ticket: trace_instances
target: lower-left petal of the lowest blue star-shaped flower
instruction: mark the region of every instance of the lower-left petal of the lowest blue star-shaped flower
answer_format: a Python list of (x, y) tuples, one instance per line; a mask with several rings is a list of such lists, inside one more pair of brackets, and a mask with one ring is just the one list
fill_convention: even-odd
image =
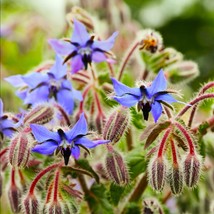
[(32, 151), (43, 155), (51, 155), (57, 149), (58, 144), (55, 141), (46, 141), (45, 143), (36, 145)]

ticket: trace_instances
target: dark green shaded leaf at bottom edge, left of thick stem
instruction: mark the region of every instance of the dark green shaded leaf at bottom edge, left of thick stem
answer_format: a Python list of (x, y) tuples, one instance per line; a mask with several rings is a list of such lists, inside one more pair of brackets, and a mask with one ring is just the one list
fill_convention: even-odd
[(108, 201), (107, 191), (103, 184), (94, 183), (90, 189), (89, 195), (86, 195), (90, 211), (92, 214), (113, 214), (113, 208)]

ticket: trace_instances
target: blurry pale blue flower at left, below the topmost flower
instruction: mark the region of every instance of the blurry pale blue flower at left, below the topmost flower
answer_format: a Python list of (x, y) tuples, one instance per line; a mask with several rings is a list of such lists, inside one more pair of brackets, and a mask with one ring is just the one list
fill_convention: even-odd
[(21, 87), (17, 95), (24, 104), (35, 105), (52, 99), (61, 104), (71, 114), (74, 100), (82, 100), (80, 91), (75, 90), (66, 78), (66, 65), (56, 56), (56, 62), (46, 73), (33, 72), (27, 75), (15, 75), (6, 78), (15, 87)]

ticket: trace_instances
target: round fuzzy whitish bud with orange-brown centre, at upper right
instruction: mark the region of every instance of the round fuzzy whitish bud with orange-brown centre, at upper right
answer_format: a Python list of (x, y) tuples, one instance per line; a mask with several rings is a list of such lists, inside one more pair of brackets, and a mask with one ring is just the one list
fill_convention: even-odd
[(139, 33), (138, 37), (141, 41), (140, 50), (155, 53), (163, 48), (163, 38), (157, 31), (145, 29)]

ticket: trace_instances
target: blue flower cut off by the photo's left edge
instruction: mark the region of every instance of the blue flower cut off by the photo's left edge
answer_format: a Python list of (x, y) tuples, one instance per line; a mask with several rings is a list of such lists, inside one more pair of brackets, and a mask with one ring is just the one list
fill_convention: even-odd
[(0, 99), (0, 135), (2, 138), (4, 135), (7, 137), (12, 137), (15, 131), (15, 124), (6, 114), (4, 114), (3, 107), (3, 102)]

